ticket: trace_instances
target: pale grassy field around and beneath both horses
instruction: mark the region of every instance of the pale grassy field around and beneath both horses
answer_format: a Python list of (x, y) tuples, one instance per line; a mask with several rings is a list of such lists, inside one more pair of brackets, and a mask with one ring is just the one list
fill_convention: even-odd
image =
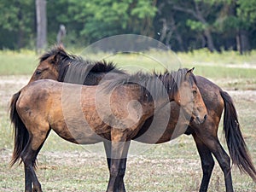
[[(164, 55), (154, 53), (161, 61)], [(148, 54), (149, 55), (149, 54)], [(100, 55), (97, 55), (101, 58)], [(177, 58), (179, 57), (179, 58)], [(243, 135), (256, 165), (256, 53), (237, 55), (234, 52), (210, 54), (198, 51), (173, 56), (174, 64), (195, 67), (195, 74), (212, 79), (229, 90), (239, 113)], [(0, 52), (0, 191), (23, 191), (23, 166), (9, 168), (13, 140), (8, 118), (8, 102), (32, 75), (38, 55), (31, 51)], [(122, 63), (131, 70), (161, 70), (161, 64), (147, 55), (111, 55), (109, 61)], [(137, 66), (137, 63), (140, 63)], [(155, 64), (156, 63), (156, 64)], [(180, 65), (180, 63), (178, 65)], [(178, 65), (175, 65), (177, 67)], [(219, 136), (224, 144), (222, 125)], [(38, 178), (44, 191), (105, 191), (108, 167), (102, 143), (78, 146), (67, 143), (51, 133), (38, 156)], [(134, 143), (127, 163), (127, 191), (198, 191), (201, 183), (201, 162), (192, 137), (178, 137), (171, 143), (143, 146)], [(235, 191), (255, 192), (251, 178), (232, 170)], [(216, 162), (209, 187), (210, 192), (224, 191), (224, 177)]]

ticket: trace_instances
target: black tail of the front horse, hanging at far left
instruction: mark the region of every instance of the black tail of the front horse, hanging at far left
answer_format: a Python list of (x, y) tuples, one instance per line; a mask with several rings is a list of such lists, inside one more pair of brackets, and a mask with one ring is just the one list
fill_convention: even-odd
[(13, 157), (10, 162), (11, 166), (13, 166), (20, 159), (20, 154), (26, 147), (26, 143), (28, 143), (29, 140), (29, 134), (26, 130), (26, 126), (23, 124), (16, 110), (16, 102), (19, 99), (20, 92), (21, 91), (15, 93), (9, 105), (9, 118), (11, 120), (11, 123), (13, 124), (15, 136), (15, 147)]

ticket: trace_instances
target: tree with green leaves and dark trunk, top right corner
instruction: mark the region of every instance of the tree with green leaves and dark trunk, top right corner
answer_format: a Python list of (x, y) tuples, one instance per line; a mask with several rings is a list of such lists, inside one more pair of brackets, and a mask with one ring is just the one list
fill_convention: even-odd
[[(250, 49), (249, 37), (256, 26), (256, 0), (230, 0), (224, 3), (215, 22), (216, 31), (222, 38), (234, 38), (242, 54)], [(223, 41), (223, 40), (222, 40)]]

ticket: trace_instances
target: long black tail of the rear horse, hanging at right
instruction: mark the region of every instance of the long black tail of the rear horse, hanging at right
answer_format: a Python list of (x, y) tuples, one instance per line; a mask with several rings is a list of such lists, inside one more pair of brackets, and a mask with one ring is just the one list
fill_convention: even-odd
[(224, 99), (224, 135), (230, 151), (233, 165), (238, 166), (241, 172), (247, 173), (256, 182), (256, 169), (247, 149), (247, 144), (241, 135), (236, 108), (231, 96), (221, 90)]

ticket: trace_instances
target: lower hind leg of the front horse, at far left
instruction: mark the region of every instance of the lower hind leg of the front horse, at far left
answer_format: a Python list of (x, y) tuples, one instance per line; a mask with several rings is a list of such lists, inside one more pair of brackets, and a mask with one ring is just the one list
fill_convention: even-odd
[(25, 169), (25, 191), (26, 192), (42, 192), (41, 184), (35, 172), (36, 159), (40, 149), (43, 147), (44, 141), (49, 135), (49, 129), (40, 134), (30, 134), (30, 140), (24, 148), (21, 159)]

